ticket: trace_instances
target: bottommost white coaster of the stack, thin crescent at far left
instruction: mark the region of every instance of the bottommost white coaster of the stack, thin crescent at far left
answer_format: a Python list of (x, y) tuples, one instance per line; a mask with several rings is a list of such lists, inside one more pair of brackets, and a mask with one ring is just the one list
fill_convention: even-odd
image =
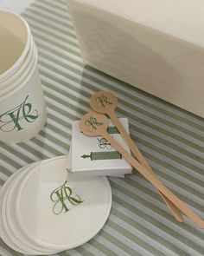
[(13, 244), (13, 241), (10, 240), (10, 237), (8, 236), (8, 234), (6, 233), (4, 227), (3, 227), (3, 198), (4, 198), (4, 195), (6, 194), (7, 190), (8, 190), (8, 187), (10, 187), (10, 183), (11, 181), (15, 180), (16, 176), (22, 172), (23, 170), (25, 169), (25, 167), (22, 167), (21, 169), (19, 169), (18, 171), (16, 171), (16, 173), (12, 174), (9, 179), (3, 184), (3, 187), (1, 188), (0, 190), (0, 236), (1, 236), (1, 239), (8, 245), (10, 246), (11, 249), (15, 250), (16, 252), (18, 253), (27, 253), (27, 252), (24, 252), (22, 250), (21, 247), (18, 247), (18, 246), (15, 246)]

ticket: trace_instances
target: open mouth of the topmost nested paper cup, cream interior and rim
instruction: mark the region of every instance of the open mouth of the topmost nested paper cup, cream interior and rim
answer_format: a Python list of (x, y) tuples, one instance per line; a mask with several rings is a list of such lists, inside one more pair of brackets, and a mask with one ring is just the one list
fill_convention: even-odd
[(0, 10), (0, 38), (0, 82), (3, 82), (24, 62), (29, 52), (29, 25), (21, 16)]

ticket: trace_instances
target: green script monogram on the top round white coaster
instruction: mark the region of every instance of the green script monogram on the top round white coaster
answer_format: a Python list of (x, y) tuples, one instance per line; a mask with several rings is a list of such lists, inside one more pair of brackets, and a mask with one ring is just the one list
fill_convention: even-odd
[(61, 187), (57, 187), (54, 189), (52, 194), (50, 194), (50, 199), (54, 202), (53, 207), (53, 213), (58, 215), (65, 211), (69, 211), (70, 209), (67, 207), (67, 203), (71, 203), (73, 206), (77, 206), (80, 203), (83, 202), (83, 200), (80, 199), (80, 195), (75, 194), (75, 196), (72, 195), (73, 190), (71, 187), (68, 187), (67, 181), (64, 182)]

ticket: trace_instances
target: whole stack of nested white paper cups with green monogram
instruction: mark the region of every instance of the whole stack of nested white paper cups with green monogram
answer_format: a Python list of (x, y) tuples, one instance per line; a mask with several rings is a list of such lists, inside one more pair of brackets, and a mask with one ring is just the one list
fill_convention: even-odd
[(44, 126), (47, 111), (28, 23), (0, 10), (0, 141), (28, 141)]

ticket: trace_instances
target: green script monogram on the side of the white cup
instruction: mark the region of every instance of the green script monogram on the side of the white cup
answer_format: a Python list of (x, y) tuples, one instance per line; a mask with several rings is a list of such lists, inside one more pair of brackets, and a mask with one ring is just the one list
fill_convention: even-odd
[(22, 121), (33, 122), (40, 115), (37, 109), (32, 111), (32, 105), (28, 102), (29, 95), (16, 108), (0, 115), (0, 130), (3, 132), (20, 131), (23, 129)]

